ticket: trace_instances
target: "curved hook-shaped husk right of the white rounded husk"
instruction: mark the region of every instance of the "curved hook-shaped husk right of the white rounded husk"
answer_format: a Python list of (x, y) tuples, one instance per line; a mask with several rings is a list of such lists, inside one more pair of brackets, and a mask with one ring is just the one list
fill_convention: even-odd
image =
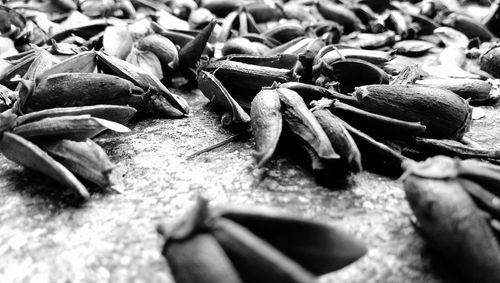
[(150, 34), (137, 42), (137, 49), (153, 52), (160, 59), (163, 73), (170, 74), (179, 67), (177, 48), (168, 38)]

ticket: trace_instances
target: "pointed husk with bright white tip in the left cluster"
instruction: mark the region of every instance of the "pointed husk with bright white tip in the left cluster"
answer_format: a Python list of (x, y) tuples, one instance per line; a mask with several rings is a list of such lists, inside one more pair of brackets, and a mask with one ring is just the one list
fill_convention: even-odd
[(44, 118), (38, 121), (19, 125), (13, 133), (23, 138), (58, 137), (71, 140), (92, 138), (102, 131), (110, 129), (117, 132), (128, 132), (129, 128), (90, 115), (60, 116)]

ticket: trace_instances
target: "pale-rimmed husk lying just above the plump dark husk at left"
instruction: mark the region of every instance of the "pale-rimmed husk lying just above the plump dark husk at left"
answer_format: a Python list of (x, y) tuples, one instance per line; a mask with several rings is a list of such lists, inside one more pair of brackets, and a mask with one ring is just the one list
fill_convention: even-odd
[(96, 69), (96, 52), (84, 51), (69, 57), (68, 59), (53, 65), (36, 76), (39, 84), (49, 76), (62, 73), (93, 73)]

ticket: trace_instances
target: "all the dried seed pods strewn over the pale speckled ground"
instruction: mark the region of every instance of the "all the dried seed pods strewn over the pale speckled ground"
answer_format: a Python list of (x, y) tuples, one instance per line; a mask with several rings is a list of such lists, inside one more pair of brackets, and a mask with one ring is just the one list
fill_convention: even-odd
[[(450, 225), (460, 226), (447, 209), (464, 204), (480, 214), (464, 192), (485, 211), (498, 210), (488, 190), (498, 183), (491, 180), (500, 179), (489, 164), (500, 163), (499, 152), (465, 136), (474, 131), (473, 107), (494, 105), (499, 97), (500, 2), (485, 2), (4, 1), (0, 150), (59, 181), (77, 199), (89, 198), (82, 180), (120, 191), (115, 166), (91, 139), (105, 130), (128, 131), (121, 124), (134, 115), (189, 119), (190, 107), (175, 89), (199, 89), (222, 126), (236, 136), (253, 134), (257, 167), (266, 167), (282, 147), (301, 152), (318, 180), (345, 179), (363, 169), (394, 177), (406, 170), (408, 200), (422, 230), (447, 254), (461, 242), (443, 244), (442, 235), (432, 234), (445, 227), (452, 237)], [(454, 165), (415, 163), (437, 155), (448, 157), (430, 160), (455, 160)], [(451, 157), (481, 161), (439, 159)], [(437, 171), (447, 174), (436, 176)], [(472, 183), (485, 175), (491, 182), (464, 185), (463, 174)], [(464, 195), (462, 200), (447, 200), (447, 187)], [(427, 202), (444, 208), (434, 211)], [(311, 255), (273, 247), (282, 239), (258, 231), (261, 220), (286, 223), (290, 231), (316, 224), (265, 213), (214, 214), (207, 207), (202, 201), (182, 225), (160, 229), (177, 282), (310, 282), (313, 275), (340, 268), (325, 263), (317, 271), (297, 263)], [(429, 223), (429, 215), (441, 222)], [(250, 231), (243, 227), (248, 219)], [(491, 235), (498, 225), (471, 221), (486, 236), (471, 232), (464, 236), (465, 251), (448, 257), (471, 262), (464, 270), (470, 280), (486, 274), (484, 282), (497, 282), (498, 272), (483, 272), (477, 252), (467, 248), (487, 239), (493, 248), (484, 250), (497, 263), (500, 251)], [(365, 253), (344, 236), (329, 239), (334, 240), (352, 247), (342, 266)], [(205, 249), (210, 250), (201, 254)], [(188, 274), (193, 265), (199, 269)]]

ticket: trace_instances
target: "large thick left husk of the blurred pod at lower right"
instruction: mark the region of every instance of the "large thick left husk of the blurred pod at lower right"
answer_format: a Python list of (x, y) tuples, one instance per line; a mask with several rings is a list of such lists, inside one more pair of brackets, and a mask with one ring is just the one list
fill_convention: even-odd
[(403, 179), (406, 198), (426, 238), (468, 281), (498, 282), (498, 242), (450, 163), (436, 157), (409, 165)]

